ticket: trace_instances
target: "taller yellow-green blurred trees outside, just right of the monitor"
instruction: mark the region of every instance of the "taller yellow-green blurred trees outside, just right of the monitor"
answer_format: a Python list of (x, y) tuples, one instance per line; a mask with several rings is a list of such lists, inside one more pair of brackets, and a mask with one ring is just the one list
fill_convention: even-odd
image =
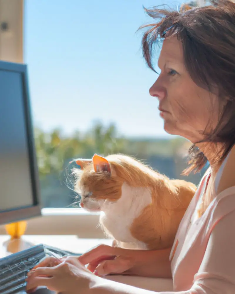
[(76, 131), (72, 136), (63, 136), (60, 129), (45, 133), (35, 128), (34, 136), (40, 176), (61, 173), (65, 164), (74, 158), (91, 158), (94, 153), (117, 153), (124, 143), (124, 139), (116, 138), (113, 124), (105, 127), (97, 123), (87, 133)]

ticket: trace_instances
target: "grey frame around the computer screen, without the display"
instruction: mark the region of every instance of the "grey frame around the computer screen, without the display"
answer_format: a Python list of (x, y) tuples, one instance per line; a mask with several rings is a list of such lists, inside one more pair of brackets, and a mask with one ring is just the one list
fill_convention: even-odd
[(33, 206), (12, 208), (0, 213), (0, 225), (15, 223), (21, 220), (41, 216), (41, 197), (39, 189), (39, 175), (36, 158), (36, 148), (33, 135), (33, 123), (31, 117), (31, 104), (28, 86), (28, 69), (26, 64), (0, 61), (0, 71), (13, 71), (21, 74), (23, 85), (24, 118), (26, 122), (26, 136), (28, 146), (28, 158), (33, 193)]

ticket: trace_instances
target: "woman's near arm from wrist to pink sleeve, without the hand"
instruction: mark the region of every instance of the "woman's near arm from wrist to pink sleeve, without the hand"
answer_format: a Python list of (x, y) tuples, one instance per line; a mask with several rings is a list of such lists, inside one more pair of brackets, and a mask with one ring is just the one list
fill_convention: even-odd
[[(229, 196), (229, 197), (235, 197)], [(162, 292), (158, 294), (234, 294), (235, 293), (235, 211), (229, 213), (216, 224), (207, 249), (194, 277), (192, 288), (182, 292)], [(115, 284), (112, 281), (95, 286), (94, 294), (152, 294), (147, 290)]]

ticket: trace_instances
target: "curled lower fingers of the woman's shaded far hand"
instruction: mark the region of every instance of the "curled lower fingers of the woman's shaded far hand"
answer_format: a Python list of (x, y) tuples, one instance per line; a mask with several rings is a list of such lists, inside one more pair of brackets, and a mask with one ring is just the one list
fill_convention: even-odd
[(121, 274), (133, 266), (131, 258), (118, 256), (114, 260), (102, 261), (94, 271), (95, 275), (105, 276), (109, 274)]

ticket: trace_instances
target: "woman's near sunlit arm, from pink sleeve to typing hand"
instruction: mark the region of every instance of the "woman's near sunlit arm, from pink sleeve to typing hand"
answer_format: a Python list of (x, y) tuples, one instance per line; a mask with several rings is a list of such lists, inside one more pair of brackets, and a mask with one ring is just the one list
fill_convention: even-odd
[[(235, 197), (235, 195), (232, 197)], [(191, 289), (182, 292), (162, 292), (158, 294), (234, 294), (234, 224), (235, 210), (216, 224)], [(148, 258), (150, 258), (150, 255)], [(75, 257), (62, 260), (47, 258), (42, 261), (29, 273), (27, 279), (27, 290), (35, 289), (38, 286), (47, 286), (49, 289), (65, 294), (157, 294), (153, 291), (135, 288), (95, 276), (81, 265)]]

